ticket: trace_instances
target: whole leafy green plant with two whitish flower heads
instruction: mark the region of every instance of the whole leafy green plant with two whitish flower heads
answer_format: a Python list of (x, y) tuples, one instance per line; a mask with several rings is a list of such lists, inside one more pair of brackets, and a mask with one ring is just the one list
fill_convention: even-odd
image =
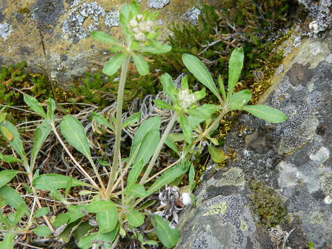
[[(133, 137), (129, 156), (127, 158), (121, 156), (122, 128), (140, 120), (140, 113), (136, 113), (122, 122), (124, 86), (127, 80), (130, 59), (133, 59), (133, 63), (140, 75), (147, 75), (149, 66), (142, 53), (160, 54), (171, 49), (170, 46), (161, 44), (156, 40), (158, 33), (156, 32), (157, 28), (154, 26), (155, 21), (156, 13), (147, 11), (140, 13), (138, 3), (132, 1), (130, 5), (123, 6), (120, 13), (120, 24), (127, 44), (120, 44), (113, 37), (104, 33), (96, 31), (92, 33), (94, 39), (110, 44), (110, 50), (116, 53), (104, 65), (103, 72), (111, 76), (121, 68), (116, 116), (110, 121), (99, 113), (93, 113), (92, 115), (96, 122), (103, 124), (116, 133), (113, 162), (111, 164), (100, 162), (102, 165), (110, 167), (110, 172), (106, 177), (103, 177), (98, 170), (91, 154), (89, 140), (79, 120), (73, 116), (66, 115), (62, 117), (59, 123), (62, 136), (57, 131), (54, 100), (48, 100), (48, 107), (45, 112), (42, 105), (35, 98), (24, 95), (24, 101), (30, 109), (44, 118), (34, 134), (30, 163), (24, 151), (23, 143), (19, 138), (19, 133), (10, 122), (5, 120), (6, 115), (3, 116), (1, 114), (0, 131), (21, 158), (21, 160), (11, 159), (17, 160), (18, 163), (24, 165), (37, 205), (40, 204), (37, 202), (37, 190), (43, 190), (49, 193), (51, 199), (66, 206), (67, 211), (57, 215), (52, 223), (44, 216), (48, 228), (46, 226), (42, 228), (38, 226), (34, 229), (35, 234), (45, 237), (50, 232), (53, 232), (53, 234), (58, 234), (55, 236), (68, 241), (69, 234), (73, 232), (73, 236), (78, 241), (78, 247), (83, 249), (91, 248), (93, 244), (95, 246), (104, 246), (104, 248), (115, 248), (121, 237), (131, 237), (140, 242), (141, 248), (145, 248), (145, 245), (156, 245), (157, 242), (154, 241), (153, 235), (146, 237), (137, 228), (145, 227), (151, 221), (151, 225), (153, 225), (154, 231), (163, 245), (167, 248), (172, 248), (178, 241), (178, 230), (174, 228), (177, 221), (172, 217), (170, 222), (167, 219), (169, 218), (167, 212), (162, 212), (161, 216), (156, 212), (149, 212), (147, 208), (154, 204), (154, 201), (147, 199), (147, 197), (153, 196), (165, 187), (165, 190), (160, 191), (158, 195), (161, 196), (159, 197), (160, 201), (165, 203), (165, 201), (168, 201), (167, 196), (172, 195), (178, 203), (183, 203), (183, 205), (194, 202), (192, 191), (195, 186), (195, 170), (194, 165), (191, 163), (192, 155), (203, 147), (203, 142), (207, 141), (209, 144), (218, 145), (218, 142), (210, 135), (219, 126), (220, 120), (228, 112), (245, 110), (269, 122), (283, 122), (286, 120), (284, 113), (272, 107), (246, 105), (252, 97), (249, 90), (233, 93), (243, 66), (243, 48), (235, 48), (230, 57), (227, 91), (221, 77), (218, 78), (219, 88), (217, 88), (204, 64), (194, 55), (184, 54), (182, 56), (183, 64), (203, 86), (216, 96), (219, 104), (203, 104), (200, 106), (199, 100), (205, 97), (205, 88), (193, 92), (189, 88), (187, 76), (182, 78), (181, 88), (176, 89), (172, 77), (168, 74), (162, 75), (160, 82), (163, 84), (163, 90), (170, 102), (156, 100), (155, 105), (162, 109), (172, 110), (172, 118), (161, 137), (160, 117), (155, 116), (143, 121)], [(215, 114), (216, 118), (213, 118)], [(176, 121), (180, 123), (183, 133), (171, 133)], [(66, 154), (73, 161), (75, 168), (85, 176), (86, 181), (89, 183), (62, 174), (39, 175), (39, 172), (34, 173), (37, 153), (51, 131), (53, 131)], [(84, 165), (79, 163), (73, 156), (62, 137), (89, 161), (93, 169), (93, 176), (86, 172)], [(182, 143), (181, 148), (176, 146), (175, 142)], [(164, 144), (178, 154), (178, 160), (150, 176)], [(209, 151), (213, 160), (224, 160), (221, 154), (222, 151), (218, 148), (210, 145)], [(1, 160), (3, 158), (5, 156), (2, 156)], [(8, 158), (5, 159), (8, 160)], [(188, 170), (189, 186), (187, 186), (185, 194), (180, 196), (176, 185)], [(8, 187), (6, 184), (16, 174), (19, 174), (19, 172), (2, 171), (0, 173), (0, 182), (3, 183), (3, 187)], [(159, 177), (157, 178), (157, 176)], [(107, 180), (107, 184), (105, 184), (105, 180)], [(153, 183), (150, 183), (151, 181)], [(64, 191), (60, 191), (61, 189), (64, 189)], [(75, 202), (68, 200), (68, 194), (71, 190), (74, 191), (73, 189), (75, 191), (78, 190), (80, 196), (84, 196), (85, 200)], [(171, 210), (174, 208), (173, 205), (174, 202), (169, 203)], [(21, 209), (18, 207), (14, 208), (17, 209), (17, 213), (21, 213)], [(42, 209), (42, 207), (39, 206), (39, 209)], [(40, 212), (45, 214), (44, 211)], [(32, 210), (30, 217), (34, 215)], [(89, 220), (94, 221), (95, 225), (98, 225), (98, 230), (93, 225), (90, 225), (84, 219), (84, 216), (88, 216)], [(6, 227), (7, 232), (3, 243), (12, 245), (13, 237), (11, 234), (13, 231), (9, 230), (11, 227), (8, 227), (6, 219), (1, 219), (0, 223)], [(28, 223), (24, 231), (28, 231), (30, 227), (31, 225)], [(11, 247), (8, 246), (8, 248)]]

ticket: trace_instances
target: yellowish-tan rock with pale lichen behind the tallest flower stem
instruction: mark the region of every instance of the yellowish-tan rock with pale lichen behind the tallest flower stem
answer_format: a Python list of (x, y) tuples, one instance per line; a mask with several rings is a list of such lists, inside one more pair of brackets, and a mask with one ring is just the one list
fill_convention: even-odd
[[(46, 73), (61, 86), (102, 68), (111, 54), (89, 38), (102, 30), (119, 38), (119, 10), (122, 0), (26, 0), (0, 1), (0, 62), (12, 64), (25, 59), (30, 71)], [(159, 9), (159, 23), (196, 21), (192, 9), (208, 0), (147, 0), (142, 8)], [(216, 3), (217, 4), (217, 3)], [(191, 12), (188, 12), (190, 11)], [(193, 17), (191, 16), (194, 15)]]

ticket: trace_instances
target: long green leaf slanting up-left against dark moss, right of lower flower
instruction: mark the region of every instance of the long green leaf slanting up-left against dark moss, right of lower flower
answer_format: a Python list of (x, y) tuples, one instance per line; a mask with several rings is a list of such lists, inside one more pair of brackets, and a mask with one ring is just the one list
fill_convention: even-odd
[(203, 64), (203, 62), (201, 62), (201, 60), (194, 55), (188, 54), (182, 55), (182, 61), (183, 64), (185, 64), (185, 67), (190, 71), (190, 73), (192, 73), (196, 77), (196, 79), (199, 80), (199, 82), (201, 82), (204, 86), (210, 89), (210, 91), (220, 100), (221, 96), (218, 92), (218, 89), (216, 89), (216, 84), (214, 84), (212, 76), (208, 71), (208, 68), (206, 68)]

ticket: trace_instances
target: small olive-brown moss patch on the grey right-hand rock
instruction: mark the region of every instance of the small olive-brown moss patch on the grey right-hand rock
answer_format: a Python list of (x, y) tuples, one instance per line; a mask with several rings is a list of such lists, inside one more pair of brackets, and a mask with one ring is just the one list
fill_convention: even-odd
[(250, 181), (248, 187), (251, 190), (250, 201), (253, 211), (258, 216), (258, 223), (266, 225), (267, 228), (282, 223), (286, 217), (286, 210), (275, 190), (258, 181)]

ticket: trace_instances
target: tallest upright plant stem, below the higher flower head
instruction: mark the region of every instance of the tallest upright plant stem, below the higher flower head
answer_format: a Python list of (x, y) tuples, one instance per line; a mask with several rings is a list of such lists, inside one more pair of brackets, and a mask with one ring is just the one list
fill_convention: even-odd
[(109, 176), (109, 183), (107, 184), (106, 196), (111, 194), (114, 181), (116, 181), (116, 174), (118, 173), (119, 167), (119, 155), (120, 155), (120, 142), (121, 142), (121, 131), (122, 131), (122, 102), (124, 85), (126, 84), (127, 72), (129, 67), (130, 55), (127, 56), (122, 64), (121, 76), (118, 89), (118, 98), (116, 100), (116, 142), (114, 145), (113, 163), (111, 168), (111, 175)]

